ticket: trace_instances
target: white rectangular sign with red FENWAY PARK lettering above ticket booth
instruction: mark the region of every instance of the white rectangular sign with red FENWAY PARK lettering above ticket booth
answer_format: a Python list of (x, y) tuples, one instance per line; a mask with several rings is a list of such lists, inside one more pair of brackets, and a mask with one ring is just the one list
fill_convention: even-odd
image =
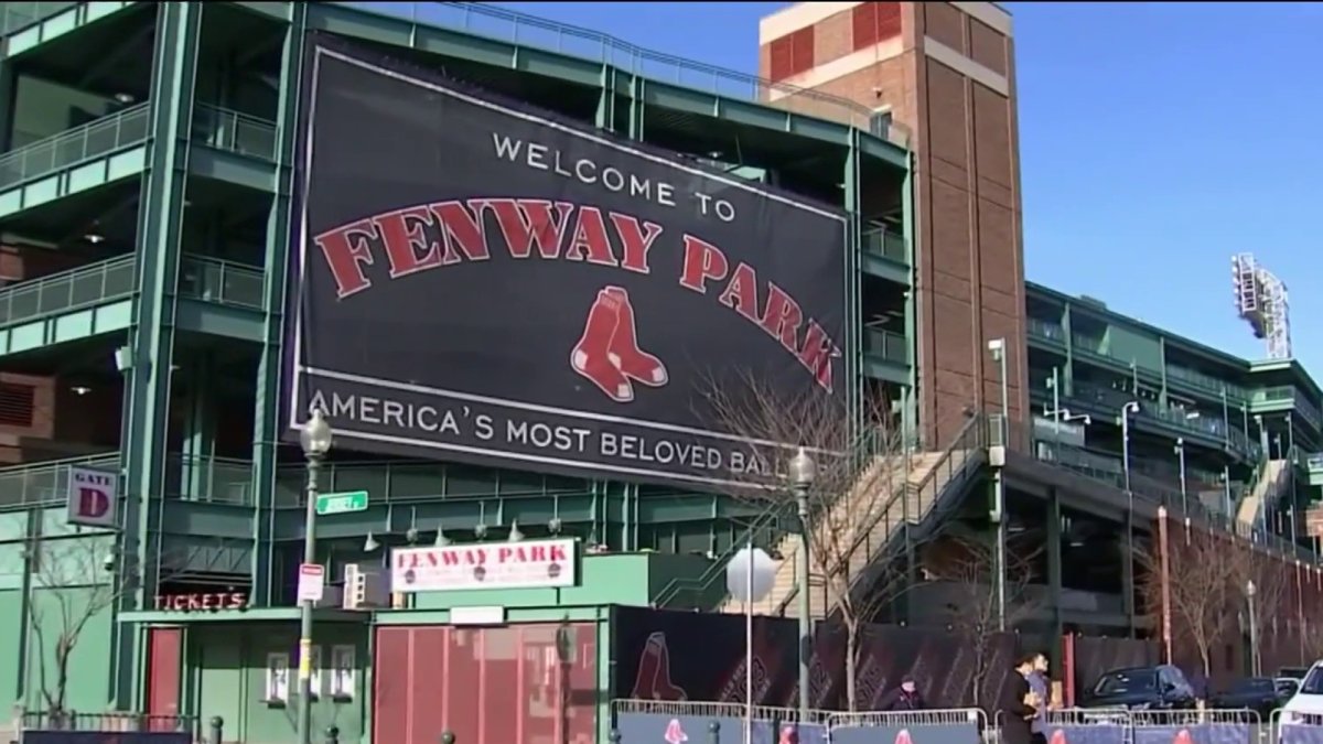
[(528, 540), (397, 548), (390, 555), (390, 588), (454, 592), (573, 586), (578, 579), (576, 545), (574, 540)]

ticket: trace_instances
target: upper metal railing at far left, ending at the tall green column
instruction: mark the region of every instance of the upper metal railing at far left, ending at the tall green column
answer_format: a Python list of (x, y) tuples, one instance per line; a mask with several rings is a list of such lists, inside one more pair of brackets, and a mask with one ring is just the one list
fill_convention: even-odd
[(0, 189), (140, 144), (148, 124), (148, 103), (139, 103), (0, 155)]

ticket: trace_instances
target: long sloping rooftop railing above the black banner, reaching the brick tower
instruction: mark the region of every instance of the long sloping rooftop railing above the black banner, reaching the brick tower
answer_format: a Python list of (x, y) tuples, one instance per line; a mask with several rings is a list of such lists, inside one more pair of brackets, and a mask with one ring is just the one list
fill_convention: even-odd
[(863, 131), (908, 146), (909, 131), (886, 116), (875, 116), (860, 103), (818, 90), (775, 83), (755, 75), (726, 70), (642, 49), (605, 33), (548, 21), (486, 3), (343, 3), (385, 16), (404, 17), (419, 25), (463, 30), (521, 46), (536, 46), (611, 65), (643, 78), (771, 106), (810, 116), (843, 120)]

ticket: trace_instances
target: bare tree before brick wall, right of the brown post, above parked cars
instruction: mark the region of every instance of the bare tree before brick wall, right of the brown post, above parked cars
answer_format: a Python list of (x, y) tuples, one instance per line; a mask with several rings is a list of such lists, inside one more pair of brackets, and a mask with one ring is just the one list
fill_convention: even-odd
[[(1156, 543), (1156, 541), (1155, 541)], [(1199, 655), (1204, 675), (1212, 675), (1212, 650), (1240, 622), (1245, 580), (1253, 553), (1232, 535), (1211, 528), (1172, 530), (1167, 537), (1167, 612), (1174, 643), (1188, 643)], [(1143, 567), (1140, 594), (1154, 628), (1163, 626), (1162, 545), (1136, 551)]]

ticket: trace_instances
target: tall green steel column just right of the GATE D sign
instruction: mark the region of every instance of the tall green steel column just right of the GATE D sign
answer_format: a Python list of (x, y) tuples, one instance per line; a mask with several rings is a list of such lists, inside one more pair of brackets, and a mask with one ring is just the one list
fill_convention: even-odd
[[(152, 138), (138, 212), (138, 302), (128, 331), (131, 365), (124, 372), (126, 405), (123, 487), (127, 498), (124, 549), (136, 555), (138, 582), (124, 592), (120, 609), (147, 606), (156, 592), (161, 491), (169, 418), (171, 364), (175, 346), (176, 287), (184, 188), (189, 158), (189, 123), (201, 36), (202, 7), (197, 3), (156, 5), (156, 48), (152, 53)], [(122, 561), (128, 564), (128, 561)], [(111, 669), (112, 696), (124, 706), (140, 704), (136, 633), (115, 624)], [(123, 663), (120, 663), (123, 662)]]

